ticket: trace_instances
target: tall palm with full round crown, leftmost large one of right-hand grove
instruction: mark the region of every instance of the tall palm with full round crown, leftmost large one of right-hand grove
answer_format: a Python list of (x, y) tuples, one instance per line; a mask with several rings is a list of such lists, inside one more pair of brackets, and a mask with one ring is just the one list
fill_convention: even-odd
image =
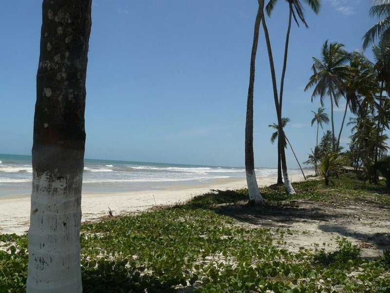
[(321, 48), (321, 60), (313, 57), (313, 72), (305, 91), (314, 86), (312, 101), (315, 96), (320, 97), (321, 105), (324, 105), (324, 97), (328, 95), (331, 100), (331, 126), (332, 149), (334, 143), (333, 99), (338, 106), (340, 95), (345, 92), (344, 79), (349, 74), (349, 67), (345, 64), (350, 60), (350, 54), (343, 49), (344, 45), (338, 42), (324, 42)]

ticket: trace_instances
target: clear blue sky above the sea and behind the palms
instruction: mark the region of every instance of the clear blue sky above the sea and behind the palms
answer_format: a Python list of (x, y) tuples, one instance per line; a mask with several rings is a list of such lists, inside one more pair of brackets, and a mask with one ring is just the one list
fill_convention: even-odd
[[(266, 0), (267, 2), (267, 0)], [(312, 57), (323, 42), (361, 49), (377, 21), (370, 0), (322, 0), (308, 6), (310, 26), (292, 24), (284, 90), (285, 128), (300, 162), (315, 146), (313, 113), (304, 91)], [(256, 0), (93, 0), (87, 69), (85, 157), (140, 162), (244, 166), (244, 130)], [(0, 153), (31, 154), (41, 0), (1, 1)], [(266, 19), (278, 84), (288, 5)], [(370, 50), (366, 51), (372, 57)], [(345, 103), (336, 109), (335, 133)], [(330, 114), (329, 98), (325, 107)], [(349, 117), (349, 116), (347, 116)], [(348, 118), (347, 118), (348, 119)], [(348, 120), (347, 120), (348, 121)], [(260, 31), (254, 89), (256, 167), (276, 167), (270, 143), (276, 122), (270, 67)], [(331, 126), (325, 126), (331, 129)], [(320, 129), (320, 133), (324, 130)], [(350, 127), (341, 145), (348, 147)], [(287, 165), (298, 167), (290, 149)]]

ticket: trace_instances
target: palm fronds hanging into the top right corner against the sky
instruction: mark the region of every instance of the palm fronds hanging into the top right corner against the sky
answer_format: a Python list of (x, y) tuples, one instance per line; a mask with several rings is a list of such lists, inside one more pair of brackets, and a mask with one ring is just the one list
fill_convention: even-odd
[(372, 26), (363, 37), (363, 49), (366, 49), (371, 43), (379, 37), (386, 42), (390, 37), (390, 0), (372, 0), (376, 5), (370, 8), (370, 17), (382, 18), (378, 23)]

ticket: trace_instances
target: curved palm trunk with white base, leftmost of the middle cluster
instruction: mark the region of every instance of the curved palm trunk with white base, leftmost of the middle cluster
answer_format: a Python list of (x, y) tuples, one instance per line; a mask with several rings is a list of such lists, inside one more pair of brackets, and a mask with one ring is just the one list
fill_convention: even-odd
[[(261, 3), (262, 2), (262, 5)], [(256, 175), (254, 172), (254, 150), (253, 150), (253, 100), (254, 100), (254, 69), (257, 52), (257, 44), (259, 39), (260, 22), (264, 17), (264, 0), (259, 2), (256, 20), (254, 22), (254, 37), (252, 44), (251, 66), (249, 76), (247, 114), (245, 124), (245, 173), (248, 184), (249, 199), (256, 204), (264, 203), (264, 199), (260, 194)]]

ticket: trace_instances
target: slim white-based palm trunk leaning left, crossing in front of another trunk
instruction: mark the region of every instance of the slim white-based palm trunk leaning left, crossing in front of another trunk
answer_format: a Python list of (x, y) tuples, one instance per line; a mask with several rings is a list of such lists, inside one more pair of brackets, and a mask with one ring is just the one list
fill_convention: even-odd
[[(275, 102), (277, 123), (278, 123), (278, 136), (279, 136), (279, 139), (281, 140), (281, 146), (285, 146), (285, 143), (284, 143), (285, 138), (284, 138), (283, 125), (282, 125), (282, 114), (280, 112), (279, 101), (278, 101), (278, 94), (277, 94), (277, 87), (276, 87), (276, 75), (275, 75), (275, 68), (273, 65), (271, 42), (270, 42), (270, 36), (268, 34), (267, 24), (266, 24), (264, 17), (262, 19), (262, 23), (263, 23), (263, 28), (264, 28), (265, 40), (266, 40), (266, 44), (267, 44), (268, 58), (270, 60), (270, 67), (271, 67), (273, 99)], [(282, 173), (283, 173), (284, 186), (286, 188), (286, 191), (289, 194), (294, 194), (295, 190), (294, 190), (294, 188), (292, 188), (291, 181), (290, 181), (289, 175), (287, 173), (286, 154), (285, 154), (284, 147), (280, 148), (280, 160), (282, 163)]]

